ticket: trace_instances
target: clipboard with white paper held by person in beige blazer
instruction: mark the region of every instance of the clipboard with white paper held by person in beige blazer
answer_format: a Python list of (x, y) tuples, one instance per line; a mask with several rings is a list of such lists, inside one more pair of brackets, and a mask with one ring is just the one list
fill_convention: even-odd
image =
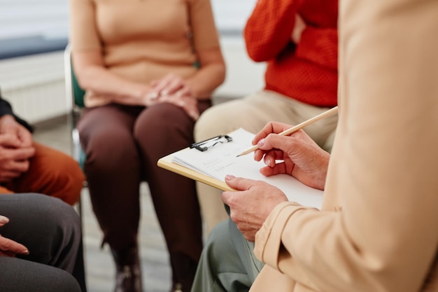
[[(259, 172), (259, 169), (264, 167), (263, 162), (256, 162), (250, 155), (236, 157), (242, 149), (251, 145), (250, 142), (254, 134), (239, 129), (227, 134), (227, 136), (232, 137), (232, 141), (229, 143), (218, 144), (206, 151), (190, 147), (184, 148), (160, 158), (157, 165), (220, 190), (234, 190), (225, 183), (225, 174), (266, 181), (280, 188), (290, 201), (318, 209), (322, 207), (323, 190), (306, 186), (288, 174), (263, 176)], [(225, 159), (224, 155), (227, 155), (228, 158)], [(183, 162), (193, 162), (193, 165), (181, 165), (181, 161), (176, 163), (176, 158), (179, 160), (183, 158)], [(206, 160), (205, 163), (202, 161), (203, 159)], [(223, 165), (221, 165), (222, 162)]]

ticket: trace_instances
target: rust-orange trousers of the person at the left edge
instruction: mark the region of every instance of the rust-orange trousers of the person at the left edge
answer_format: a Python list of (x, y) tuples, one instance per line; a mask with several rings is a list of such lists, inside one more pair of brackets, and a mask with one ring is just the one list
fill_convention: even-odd
[(69, 155), (34, 142), (35, 155), (29, 170), (17, 179), (0, 184), (0, 193), (42, 193), (75, 204), (85, 176)]

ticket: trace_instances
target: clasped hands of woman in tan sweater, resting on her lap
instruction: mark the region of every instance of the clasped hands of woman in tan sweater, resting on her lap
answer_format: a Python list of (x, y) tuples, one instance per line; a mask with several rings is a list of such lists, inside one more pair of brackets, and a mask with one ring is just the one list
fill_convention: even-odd
[(150, 83), (150, 90), (144, 96), (146, 106), (169, 102), (181, 107), (193, 120), (199, 118), (197, 99), (183, 78), (167, 74), (164, 78)]

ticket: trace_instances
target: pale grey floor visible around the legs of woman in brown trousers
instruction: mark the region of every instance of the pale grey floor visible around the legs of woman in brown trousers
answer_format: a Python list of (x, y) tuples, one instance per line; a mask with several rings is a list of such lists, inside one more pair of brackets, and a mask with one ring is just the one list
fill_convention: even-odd
[[(34, 139), (70, 154), (71, 137), (69, 133), (66, 118), (60, 118), (53, 123), (38, 125), (34, 133)], [(141, 204), (142, 215), (139, 238), (141, 243), (143, 291), (168, 292), (171, 286), (171, 272), (167, 250), (146, 183), (141, 186)], [(100, 249), (101, 231), (92, 213), (87, 188), (83, 189), (82, 207), (88, 292), (112, 292), (115, 272), (113, 260), (107, 246)]]

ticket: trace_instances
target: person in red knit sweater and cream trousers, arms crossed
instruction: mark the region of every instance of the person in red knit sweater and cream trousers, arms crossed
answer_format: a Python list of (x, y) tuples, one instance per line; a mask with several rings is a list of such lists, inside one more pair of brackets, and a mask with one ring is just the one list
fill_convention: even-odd
[[(202, 113), (195, 141), (243, 127), (256, 133), (269, 121), (297, 125), (337, 105), (337, 0), (259, 0), (244, 31), (249, 57), (267, 62), (264, 89)], [(330, 152), (337, 115), (304, 130)], [(197, 183), (209, 233), (228, 215), (220, 190)]]

